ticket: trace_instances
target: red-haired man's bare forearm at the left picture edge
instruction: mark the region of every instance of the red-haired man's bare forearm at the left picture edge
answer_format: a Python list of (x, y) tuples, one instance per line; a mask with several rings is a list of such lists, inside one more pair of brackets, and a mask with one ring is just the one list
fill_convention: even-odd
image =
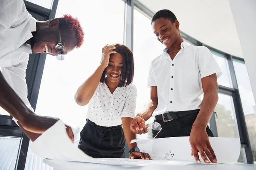
[(23, 123), (29, 113), (33, 113), (6, 82), (0, 71), (0, 106), (17, 121)]

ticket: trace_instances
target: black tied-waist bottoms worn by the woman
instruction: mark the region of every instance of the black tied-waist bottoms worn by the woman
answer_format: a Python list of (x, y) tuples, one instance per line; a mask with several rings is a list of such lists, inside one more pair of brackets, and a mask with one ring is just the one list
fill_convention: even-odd
[(87, 119), (80, 133), (78, 148), (93, 158), (124, 158), (125, 136), (122, 125), (104, 127)]

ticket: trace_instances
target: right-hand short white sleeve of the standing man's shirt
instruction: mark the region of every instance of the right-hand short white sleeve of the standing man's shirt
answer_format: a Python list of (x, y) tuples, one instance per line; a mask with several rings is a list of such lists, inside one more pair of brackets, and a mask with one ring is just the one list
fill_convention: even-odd
[(219, 78), (222, 72), (211, 51), (207, 47), (201, 48), (198, 56), (198, 69), (201, 79), (215, 73), (217, 74), (217, 78)]

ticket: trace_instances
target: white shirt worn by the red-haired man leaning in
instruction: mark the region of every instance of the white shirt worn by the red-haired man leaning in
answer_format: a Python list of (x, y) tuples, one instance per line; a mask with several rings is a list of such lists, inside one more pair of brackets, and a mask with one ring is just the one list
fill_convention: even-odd
[(0, 0), (0, 68), (1, 72), (32, 110), (27, 98), (26, 68), (31, 46), (24, 44), (36, 31), (36, 20), (26, 10), (23, 0)]

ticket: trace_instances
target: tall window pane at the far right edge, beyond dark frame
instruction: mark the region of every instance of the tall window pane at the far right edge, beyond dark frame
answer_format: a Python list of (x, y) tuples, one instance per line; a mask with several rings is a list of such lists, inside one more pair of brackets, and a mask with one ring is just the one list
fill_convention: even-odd
[(244, 63), (233, 61), (244, 117), (247, 125), (253, 159), (256, 161), (256, 106)]

